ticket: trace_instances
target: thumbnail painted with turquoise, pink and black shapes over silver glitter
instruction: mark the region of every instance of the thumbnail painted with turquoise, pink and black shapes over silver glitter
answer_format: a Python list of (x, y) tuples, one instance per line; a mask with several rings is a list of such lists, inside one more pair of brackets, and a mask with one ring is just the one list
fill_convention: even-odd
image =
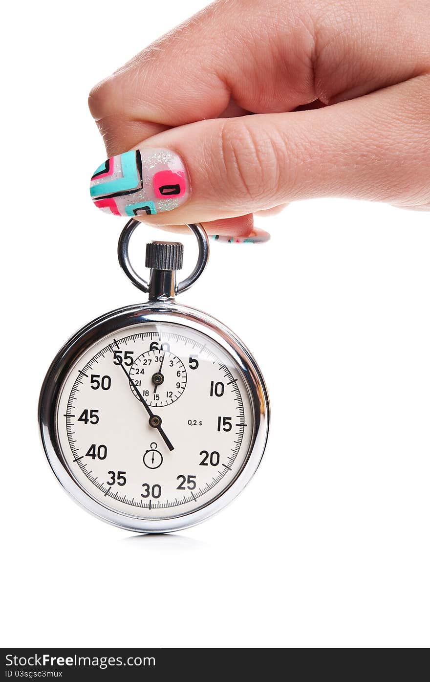
[(181, 157), (170, 149), (133, 149), (112, 156), (91, 177), (94, 204), (114, 216), (172, 211), (189, 199)]

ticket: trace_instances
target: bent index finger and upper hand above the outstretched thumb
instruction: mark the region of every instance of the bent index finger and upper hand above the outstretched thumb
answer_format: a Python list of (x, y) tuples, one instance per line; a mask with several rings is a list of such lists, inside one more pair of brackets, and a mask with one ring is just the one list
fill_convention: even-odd
[[(102, 81), (89, 98), (108, 155), (223, 115), (358, 97), (429, 70), (429, 4), (219, 0)], [(383, 39), (382, 39), (383, 31)]]

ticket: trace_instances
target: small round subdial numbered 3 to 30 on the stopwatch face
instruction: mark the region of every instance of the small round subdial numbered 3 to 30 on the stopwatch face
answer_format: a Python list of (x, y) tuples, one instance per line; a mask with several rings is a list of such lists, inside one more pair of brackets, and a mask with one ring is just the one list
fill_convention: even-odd
[[(183, 362), (164, 349), (153, 349), (136, 357), (130, 368), (130, 383), (134, 395), (140, 400), (136, 388), (147, 404), (164, 407), (178, 400), (187, 385), (187, 372)], [(136, 388), (135, 388), (136, 386)]]

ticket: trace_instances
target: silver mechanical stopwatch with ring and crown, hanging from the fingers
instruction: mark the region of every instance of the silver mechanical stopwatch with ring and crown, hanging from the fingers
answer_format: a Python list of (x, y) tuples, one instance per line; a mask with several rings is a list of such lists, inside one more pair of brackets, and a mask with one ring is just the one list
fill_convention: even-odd
[(147, 303), (100, 316), (67, 341), (50, 366), (39, 404), (46, 456), (67, 493), (98, 518), (130, 531), (164, 533), (209, 518), (254, 475), (268, 436), (262, 374), (243, 342), (176, 295), (183, 245), (147, 245), (149, 282), (129, 261), (130, 220), (119, 262)]

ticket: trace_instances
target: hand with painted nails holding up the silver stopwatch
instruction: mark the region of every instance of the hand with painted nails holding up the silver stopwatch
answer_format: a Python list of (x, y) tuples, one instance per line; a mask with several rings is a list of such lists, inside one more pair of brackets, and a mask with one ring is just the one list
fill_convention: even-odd
[(108, 155), (174, 152), (153, 223), (258, 240), (252, 213), (303, 198), (430, 209), (429, 25), (428, 0), (219, 0), (89, 106)]

